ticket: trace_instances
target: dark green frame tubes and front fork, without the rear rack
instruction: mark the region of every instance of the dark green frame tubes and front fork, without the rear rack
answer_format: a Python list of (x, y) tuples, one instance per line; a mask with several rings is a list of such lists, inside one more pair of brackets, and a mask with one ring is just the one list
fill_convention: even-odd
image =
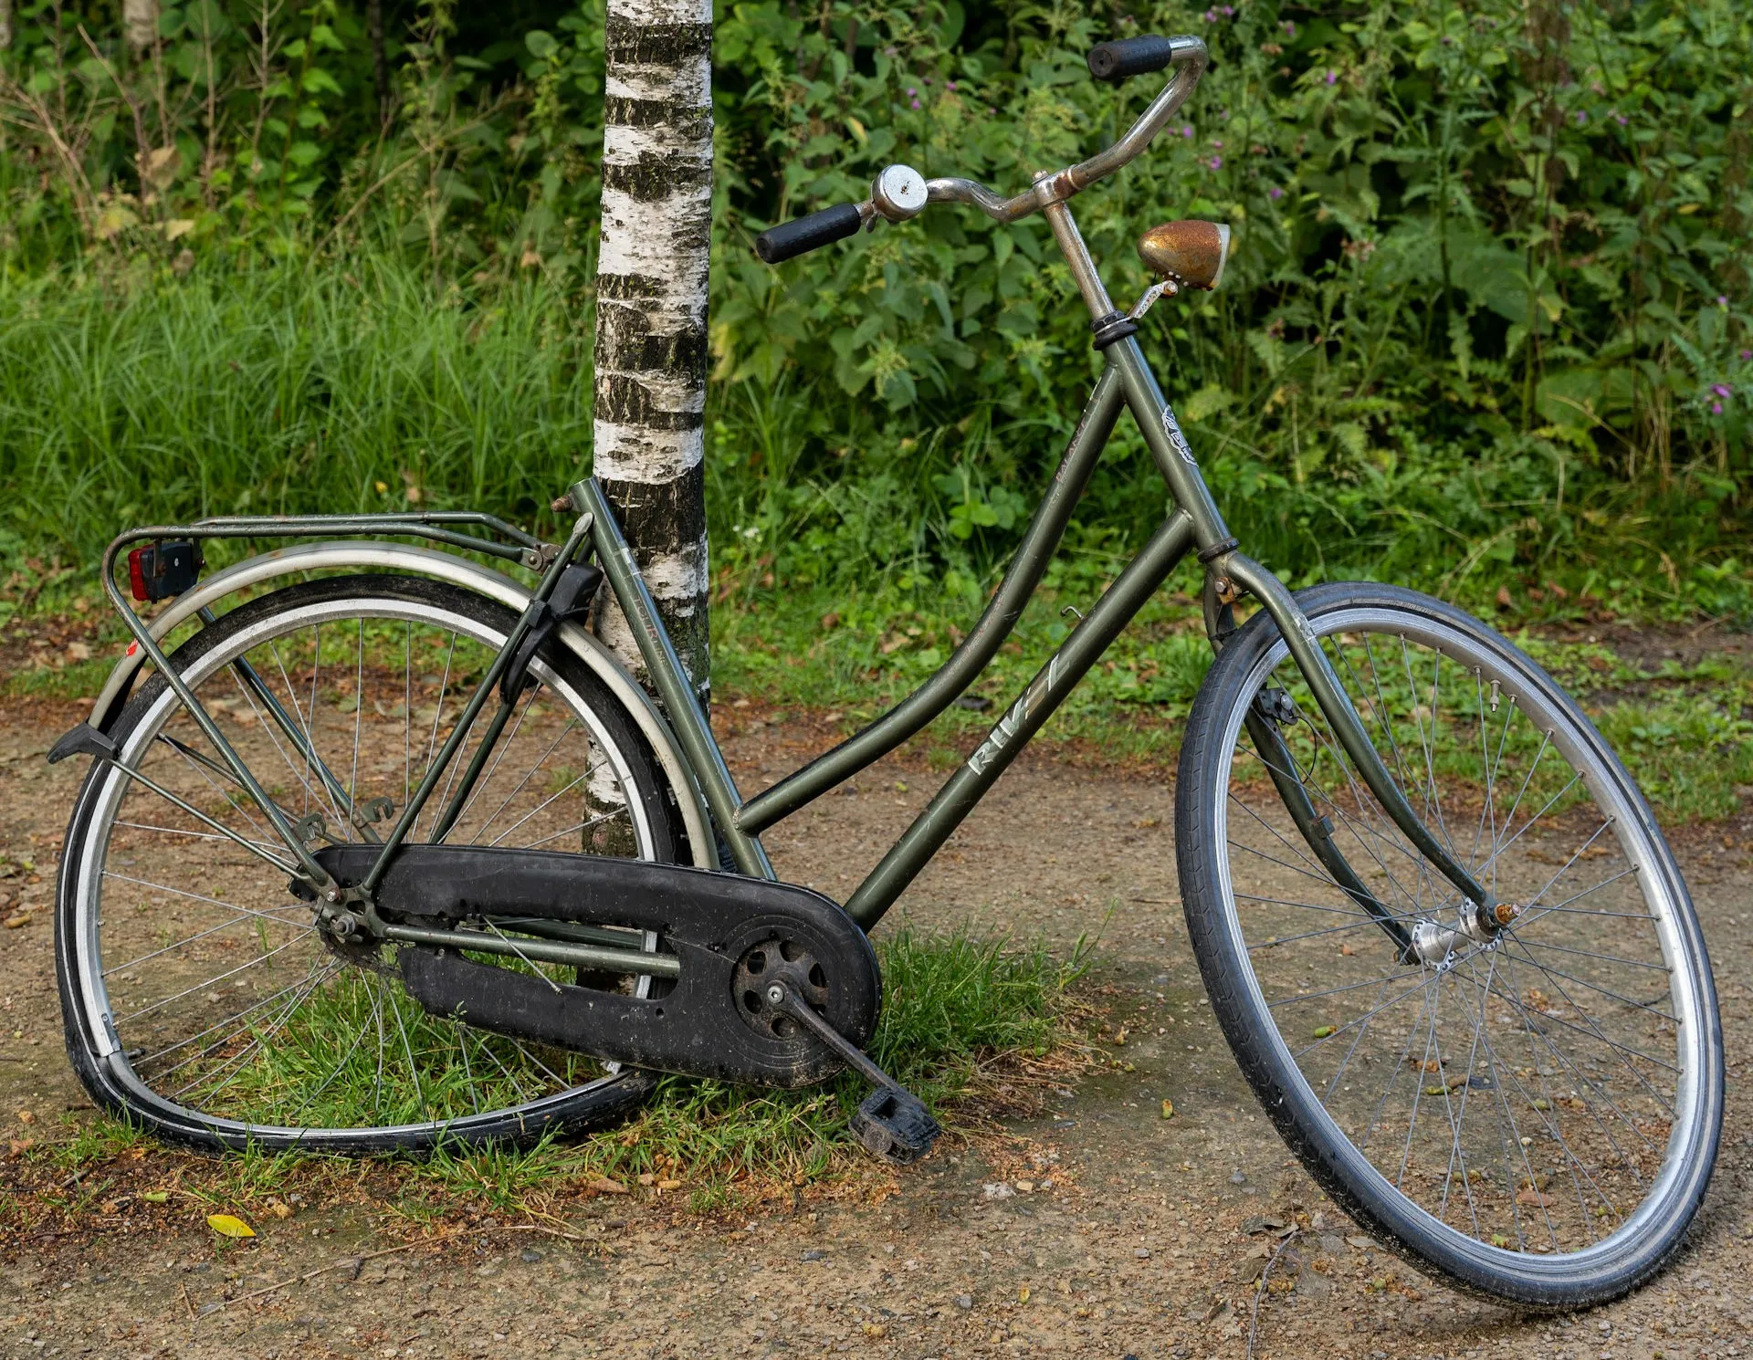
[[(1054, 203), (1047, 209), (1073, 275), (1083, 289), (1096, 319), (1117, 317), (1108, 294), (1096, 275), (1089, 252), (1076, 233), (1069, 209)], [(1078, 622), (1057, 652), (1036, 673), (1017, 701), (994, 724), (973, 755), (955, 769), (913, 824), (901, 834), (882, 862), (847, 901), (847, 911), (866, 931), (894, 904), (908, 883), (931, 861), (955, 827), (968, 817), (980, 797), (997, 782), (1017, 754), (1052, 717), (1066, 694), (1083, 678), (1108, 645), (1145, 606), (1167, 575), (1190, 552), (1197, 550), (1208, 573), (1208, 591), (1220, 589), (1231, 599), (1246, 591), (1271, 613), (1290, 645), (1290, 654), (1315, 694), (1317, 703), (1332, 724), (1341, 747), (1357, 764), (1371, 792), (1418, 850), (1455, 889), (1483, 908), (1494, 906), (1492, 896), (1462, 868), (1425, 827), (1418, 813), (1401, 792), (1388, 768), (1371, 743), (1364, 724), (1346, 696), (1332, 664), (1315, 643), (1308, 619), (1297, 608), (1290, 592), (1259, 563), (1238, 552), (1211, 492), (1199, 475), (1192, 449), (1175, 419), (1175, 410), (1157, 386), (1138, 340), (1125, 333), (1104, 349), (1106, 368), (1096, 380), (1083, 415), (1071, 435), (1066, 452), (1054, 471), (1052, 482), (1024, 533), (997, 591), (943, 668), (894, 708), (878, 717), (855, 736), (819, 755), (773, 787), (743, 799), (736, 790), (724, 755), (712, 736), (712, 726), (689, 684), (675, 645), (664, 633), (663, 620), (652, 603), (650, 591), (640, 578), (638, 566), (615, 515), (594, 478), (577, 482), (568, 496), (575, 510), (591, 521), (596, 559), (608, 577), (610, 589), (621, 603), (640, 655), (670, 712), (677, 740), (692, 764), (712, 810), (719, 834), (736, 868), (745, 875), (773, 876), (773, 868), (761, 848), (759, 832), (780, 818), (798, 811), (827, 789), (857, 775), (882, 759), (906, 738), (943, 713), (985, 669), (1010, 636), (1024, 606), (1034, 594), (1047, 563), (1066, 529), (1071, 512), (1094, 471), (1096, 459), (1113, 433), (1120, 408), (1131, 410), (1145, 436), (1145, 443), (1162, 473), (1176, 510), (1152, 535), (1145, 549), (1120, 571), (1101, 594), (1089, 613)], [(1227, 603), (1227, 601), (1225, 601)], [(1227, 613), (1227, 608), (1224, 610)], [(1208, 619), (1213, 613), (1208, 612)], [(1222, 638), (1213, 633), (1213, 645)], [(1311, 843), (1320, 841), (1324, 859), (1338, 850), (1313, 815), (1306, 799), (1290, 803), (1292, 817)], [(1364, 894), (1367, 889), (1345, 868), (1346, 889)], [(1373, 901), (1373, 899), (1371, 899)], [(1380, 908), (1378, 917), (1387, 918)]]

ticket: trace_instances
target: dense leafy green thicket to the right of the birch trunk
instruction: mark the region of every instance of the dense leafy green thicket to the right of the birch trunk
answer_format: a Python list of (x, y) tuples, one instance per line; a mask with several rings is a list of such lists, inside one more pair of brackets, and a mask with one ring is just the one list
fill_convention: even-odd
[[(1083, 68), (1129, 32), (1197, 32), (1213, 67), (1185, 123), (1073, 209), (1117, 300), (1146, 282), (1146, 226), (1234, 226), (1224, 291), (1160, 305), (1146, 342), (1241, 522), (1309, 570), (1334, 528), (1413, 559), (1381, 570), (1464, 556), (1466, 535), (1485, 547), (1464, 575), (1574, 549), (1630, 485), (1683, 485), (1720, 512), (1721, 566), (1753, 400), (1753, 81), (1730, 4), (736, 5), (713, 347), (726, 384), (848, 398), (812, 405), (820, 457), (796, 471), (843, 477), (847, 443), (887, 461), (945, 422), (933, 447), (955, 466), (926, 489), (966, 538), (996, 524), (959, 508), (969, 487), (1055, 452), (1043, 398), (1076, 410), (1094, 359), (1045, 223), (938, 210), (782, 270), (749, 237), (862, 198), (891, 161), (1010, 189), (1087, 154), (1153, 93)], [(1099, 482), (1103, 514), (1125, 519), (1143, 475)], [(1288, 487), (1320, 492), (1301, 521), (1278, 510)]]

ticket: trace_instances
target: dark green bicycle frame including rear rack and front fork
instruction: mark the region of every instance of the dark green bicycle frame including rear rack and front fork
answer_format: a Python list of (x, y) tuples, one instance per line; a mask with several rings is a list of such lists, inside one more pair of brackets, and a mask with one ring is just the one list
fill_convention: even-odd
[[(153, 529), (135, 529), (110, 543), (103, 561), (103, 585), (117, 612), (128, 622), (138, 645), (151, 662), (165, 675), (177, 698), (189, 708), (203, 736), (214, 745), (237, 776), (240, 787), (256, 801), (268, 817), (268, 824), (286, 841), (296, 868), (324, 901), (344, 906), (365, 906), (365, 924), (382, 938), (400, 938), (405, 927), (386, 925), (377, 920), (372, 906), (372, 890), (382, 882), (389, 861), (407, 838), (424, 804), (429, 801), (447, 766), (463, 748), (466, 733), (480, 717), (498, 684), (500, 675), (510, 664), (510, 657), (519, 645), (536, 627), (547, 599), (554, 594), (561, 575), (586, 556), (594, 556), (601, 566), (608, 587), (614, 591), (624, 615), (633, 626), (633, 636), (645, 662), (650, 685), (657, 691), (670, 724), (675, 731), (682, 755), (691, 766), (694, 778), (712, 811), (715, 832), (722, 836), (724, 848), (729, 850), (738, 871), (757, 878), (777, 878), (759, 834), (780, 818), (798, 811), (824, 792), (857, 775), (884, 755), (892, 752), (933, 719), (941, 715), (966, 689), (980, 676), (985, 666), (997, 654), (997, 648), (1010, 636), (1029, 603), (1047, 563), (1052, 559), (1071, 519), (1078, 499), (1089, 485), (1096, 461), (1113, 435), (1120, 410), (1132, 414), (1134, 422), (1145, 436), (1157, 470), (1162, 473), (1175, 501), (1175, 510), (1164, 519), (1150, 542), (1108, 585), (1089, 613), (1078, 620), (1061, 647), (1048, 657), (1047, 664), (1034, 675), (1029, 685), (1017, 696), (1015, 703), (1004, 710), (992, 726), (985, 740), (973, 755), (961, 764), (943, 783), (931, 803), (919, 813), (912, 825), (901, 834), (894, 846), (882, 857), (869, 876), (857, 887), (845, 908), (848, 915), (866, 931), (871, 929), (884, 913), (896, 903), (908, 883), (919, 876), (938, 848), (950, 838), (957, 825), (968, 817), (975, 804), (997, 782), (999, 775), (1017, 759), (1018, 752), (1041, 729), (1048, 717), (1059, 708), (1064, 698), (1076, 687), (1090, 666), (1113, 643), (1120, 631), (1138, 615), (1152, 594), (1162, 585), (1169, 573), (1189, 552), (1196, 552), (1204, 566), (1206, 629), (1213, 647), (1222, 647), (1229, 627), (1229, 605), (1243, 592), (1252, 594), (1271, 615), (1283, 634), (1292, 661), (1302, 671), (1317, 705), (1332, 726), (1341, 748), (1357, 766), (1364, 783), (1371, 789), (1383, 810), (1408, 839), (1430, 861), (1466, 899), (1483, 910), (1495, 906), (1494, 897), (1462, 868), (1444, 848), (1444, 845), (1420, 820), (1411, 803), (1394, 782), (1387, 764), (1371, 743), (1364, 724), (1357, 715), (1345, 687), (1339, 684), (1332, 664), (1315, 641), (1309, 620), (1297, 608), (1290, 591), (1273, 577), (1264, 566), (1239, 552), (1239, 545), (1229, 535), (1224, 517), (1199, 473), (1192, 449), (1175, 419), (1175, 410), (1157, 386), (1150, 365), (1134, 336), (1136, 324), (1113, 308), (1108, 293), (1096, 273), (1083, 240), (1064, 202), (1050, 203), (1043, 209), (1054, 235), (1071, 265), (1071, 273), (1090, 308), (1096, 326), (1097, 345), (1106, 358), (1106, 366), (1096, 380), (1083, 415), (1059, 461), (1059, 468), (1041, 498), (1034, 517), (1024, 533), (1017, 554), (1004, 571), (997, 591), (987, 603), (980, 620), (961, 641), (948, 661), (926, 680), (917, 691), (901, 699), (894, 708), (871, 722), (855, 736), (847, 738), (833, 750), (819, 755), (810, 764), (782, 778), (773, 787), (743, 799), (731, 776), (724, 754), (712, 734), (712, 726), (694, 685), (677, 655), (675, 643), (664, 631), (663, 620), (652, 601), (652, 594), (640, 577), (633, 552), (621, 533), (614, 510), (596, 478), (584, 478), (568, 491), (568, 503), (578, 519), (564, 545), (543, 545), (535, 538), (512, 529), (512, 526), (487, 515), (473, 514), (433, 514), (433, 515), (351, 515), (351, 517), (309, 517), (309, 519), (233, 519), (203, 521), (202, 524), (175, 529), (160, 526)], [(442, 750), (422, 778), (419, 789), (401, 810), (394, 827), (382, 841), (382, 848), (358, 889), (342, 889), (333, 883), (321, 864), (316, 862), (300, 832), (291, 825), (291, 818), (258, 785), (242, 757), (224, 740), (214, 720), (202, 710), (195, 696), (182, 684), (175, 669), (153, 640), (145, 624), (126, 608), (116, 585), (116, 559), (124, 543), (144, 538), (167, 538), (177, 533), (198, 538), (233, 538), (233, 536), (284, 536), (284, 535), (338, 535), (358, 531), (377, 531), (384, 535), (417, 535), (510, 557), (524, 566), (542, 571), (542, 584), (531, 596), (529, 606), (517, 620), (500, 654), (487, 673)], [(510, 543), (498, 543), (491, 538), (463, 533), (463, 529), (487, 529), (498, 538), (510, 538)], [(247, 676), (245, 676), (247, 678)], [(449, 810), (442, 813), (435, 825), (449, 825), (454, 811), (463, 806), (475, 783), (487, 750), (498, 741), (505, 719), (510, 712), (508, 701), (501, 696), (500, 710), (487, 722), (482, 741), (459, 787), (449, 796)], [(272, 715), (272, 710), (270, 710)], [(282, 715), (284, 717), (284, 715)], [(293, 724), (282, 722), (287, 734)], [(1383, 931), (1397, 946), (1406, 946), (1404, 929), (1392, 918), (1362, 883), (1362, 880), (1345, 862), (1332, 843), (1325, 818), (1317, 817), (1309, 799), (1301, 790), (1301, 782), (1292, 775), (1288, 752), (1269, 720), (1250, 724), (1257, 741), (1264, 741), (1260, 752), (1274, 782), (1283, 794), (1285, 806), (1297, 824), (1304, 839), (1317, 857), (1329, 868), (1341, 889), (1378, 917)], [(295, 738), (296, 740), (296, 738)], [(312, 754), (314, 755), (314, 754)], [(326, 771), (323, 771), (326, 775)], [(351, 810), (349, 810), (351, 811)], [(251, 848), (245, 845), (245, 848)], [(256, 852), (259, 854), (259, 852)], [(277, 861), (275, 861), (277, 862)], [(291, 868), (291, 866), (287, 866)], [(610, 943), (610, 941), (603, 941)], [(603, 950), (593, 945), (594, 962), (605, 962), (608, 955), (649, 967), (649, 955), (626, 950)], [(645, 960), (640, 964), (640, 960)], [(636, 971), (636, 969), (635, 969)]]

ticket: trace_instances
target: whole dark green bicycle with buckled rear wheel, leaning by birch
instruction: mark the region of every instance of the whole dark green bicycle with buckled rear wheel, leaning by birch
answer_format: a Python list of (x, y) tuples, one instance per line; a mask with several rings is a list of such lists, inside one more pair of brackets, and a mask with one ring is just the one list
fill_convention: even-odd
[[(93, 757), (56, 910), (91, 1097), (207, 1148), (419, 1150), (619, 1120), (654, 1071), (801, 1085), (850, 1064), (875, 1083), (859, 1137), (917, 1157), (931, 1115), (861, 1052), (882, 992), (866, 932), (1192, 554), (1215, 659), (1180, 754), (1182, 899), (1280, 1134), (1346, 1213), (1464, 1290), (1578, 1307), (1660, 1269), (1709, 1181), (1723, 1053), (1646, 801), (1488, 626), (1392, 585), (1292, 594), (1241, 552), (1136, 338), (1160, 294), (1220, 282), (1227, 230), (1146, 233), (1160, 282), (1120, 312), (1071, 217), (1204, 63), (1190, 37), (1094, 49), (1101, 79), (1173, 74), (1125, 137), (1013, 198), (891, 166), (869, 200), (759, 238), (777, 263), (936, 203), (1043, 212), (1104, 368), (943, 668), (754, 797), (593, 478), (556, 503), (575, 515), (557, 545), (472, 512), (110, 543), (103, 589), (133, 643), (49, 757)], [(761, 831), (980, 675), (1122, 408), (1173, 512), (845, 904), (780, 883)], [(216, 538), (316, 542), (203, 580)], [(135, 599), (163, 603), (151, 619), (123, 598), (124, 549)], [(584, 627), (603, 592), (656, 701)]]

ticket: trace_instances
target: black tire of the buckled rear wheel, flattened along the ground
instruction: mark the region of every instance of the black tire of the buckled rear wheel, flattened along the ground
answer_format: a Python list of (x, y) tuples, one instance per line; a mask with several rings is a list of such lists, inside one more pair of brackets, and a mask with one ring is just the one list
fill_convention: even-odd
[[(300, 612), (345, 610), (352, 603), (391, 603), (396, 608), (415, 612), (431, 610), (433, 617), (468, 620), (489, 636), (503, 636), (514, 624), (515, 613), (503, 605), (482, 596), (461, 591), (454, 585), (433, 582), (421, 577), (365, 575), (333, 577), (291, 585), (272, 594), (251, 599), (233, 612), (223, 615), (217, 624), (209, 626), (189, 638), (172, 654), (172, 662), (179, 673), (189, 673), (203, 657), (216, 648), (224, 648), (230, 640), (251, 627), (268, 626), (272, 620), (296, 617)], [(361, 612), (361, 619), (366, 612)], [(361, 624), (361, 655), (363, 655)], [(319, 643), (321, 647), (321, 643)], [(412, 662), (410, 662), (412, 664)], [(614, 698), (591, 669), (564, 648), (550, 645), (536, 661), (535, 671), (549, 676), (550, 689), (543, 692), (570, 691), (573, 701), (589, 712), (600, 727), (593, 729), (612, 743), (617, 750), (617, 768), (624, 766), (629, 778), (622, 778), (621, 787), (636, 796), (638, 808), (629, 811), (629, 820), (640, 818), (640, 839), (647, 859), (677, 862), (678, 846), (684, 843), (680, 815), (666, 789), (661, 768), (650, 752), (649, 743), (640, 734), (638, 726), (626, 713), (621, 701)], [(449, 671), (447, 671), (449, 676)], [(110, 736), (126, 754), (130, 740), (142, 722), (153, 720), (168, 724), (167, 717), (174, 705), (174, 696), (167, 694), (161, 676), (153, 676), (128, 701), (126, 708), (110, 726)], [(444, 687), (440, 685), (440, 691)], [(363, 687), (359, 696), (363, 698)], [(535, 694), (536, 691), (531, 691)], [(533, 705), (535, 699), (531, 698)], [(359, 706), (356, 698), (354, 706)], [(408, 722), (412, 724), (412, 705)], [(578, 710), (568, 710), (577, 713)], [(177, 706), (175, 713), (181, 713)], [(263, 727), (268, 724), (263, 722)], [(314, 701), (312, 701), (314, 726)], [(433, 719), (436, 731), (436, 717)], [(151, 738), (142, 738), (147, 745)], [(358, 761), (358, 755), (354, 757)], [(230, 1120), (207, 1116), (198, 1109), (167, 1101), (135, 1074), (128, 1055), (117, 1046), (114, 1022), (107, 1009), (105, 995), (93, 999), (95, 988), (88, 980), (93, 976), (93, 964), (82, 960), (81, 950), (98, 952), (95, 945), (81, 946), (79, 941), (95, 929), (82, 934), (77, 925), (82, 869), (88, 855), (98, 855), (96, 873), (107, 873), (105, 848), (91, 845), (100, 803), (105, 799), (105, 787), (112, 778), (110, 768), (93, 764), (81, 787), (67, 829), (67, 841), (61, 852), (61, 875), (56, 897), (56, 973), (61, 995), (61, 1015), (67, 1038), (67, 1053), (74, 1071), (91, 1099), (117, 1118), (142, 1125), (156, 1136), (191, 1148), (202, 1150), (238, 1150), (254, 1148), (310, 1148), (331, 1153), (380, 1153), (380, 1151), (426, 1151), (438, 1144), (480, 1144), (510, 1143), (529, 1144), (554, 1134), (578, 1134), (589, 1129), (615, 1123), (629, 1116), (656, 1088), (656, 1076), (621, 1069), (586, 1081), (568, 1090), (552, 1090), (540, 1099), (519, 1101), (503, 1108), (477, 1111), (458, 1118), (436, 1122), (396, 1123), (384, 1127), (256, 1127), (247, 1120)], [(109, 794), (116, 797), (116, 794)], [(107, 836), (107, 831), (102, 832)], [(347, 831), (351, 836), (352, 832)], [(212, 892), (223, 892), (214, 887)], [(96, 976), (103, 976), (98, 969)], [(109, 1034), (102, 1031), (109, 1029)], [(412, 1064), (412, 1052), (408, 1055)], [(382, 1067), (379, 1069), (382, 1071)], [(417, 1083), (415, 1083), (417, 1085)], [(522, 1090), (522, 1087), (519, 1087)]]

